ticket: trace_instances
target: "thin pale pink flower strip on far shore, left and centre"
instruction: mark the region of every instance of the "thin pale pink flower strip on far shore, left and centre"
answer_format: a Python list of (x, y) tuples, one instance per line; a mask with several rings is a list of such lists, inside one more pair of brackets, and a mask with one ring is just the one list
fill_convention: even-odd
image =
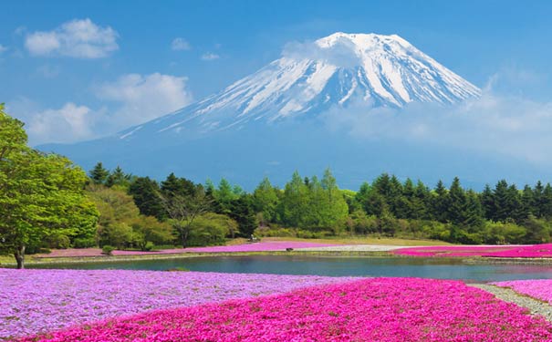
[[(113, 255), (140, 255), (140, 254), (180, 254), (180, 253), (239, 253), (239, 252), (268, 252), (286, 251), (286, 248), (313, 248), (329, 247), (336, 244), (303, 243), (297, 241), (269, 241), (255, 244), (234, 244), (228, 246), (190, 247), (165, 249), (155, 252), (140, 251), (113, 251)], [(99, 248), (59, 249), (50, 254), (40, 254), (42, 257), (71, 257), (71, 256), (100, 256)]]

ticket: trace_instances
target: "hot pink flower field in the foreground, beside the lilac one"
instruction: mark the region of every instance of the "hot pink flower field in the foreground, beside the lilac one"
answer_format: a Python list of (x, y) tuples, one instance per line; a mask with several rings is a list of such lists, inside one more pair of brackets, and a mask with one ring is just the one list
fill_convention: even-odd
[(374, 278), (27, 337), (99, 341), (551, 341), (552, 325), (459, 281)]

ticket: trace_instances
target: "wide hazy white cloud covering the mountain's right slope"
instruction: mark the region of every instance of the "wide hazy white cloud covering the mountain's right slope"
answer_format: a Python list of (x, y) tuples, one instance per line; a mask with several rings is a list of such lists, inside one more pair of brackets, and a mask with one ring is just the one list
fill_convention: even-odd
[(448, 146), (552, 165), (552, 102), (505, 96), (492, 87), (485, 87), (481, 98), (453, 107), (418, 103), (369, 109), (356, 104), (330, 109), (323, 119), (332, 130), (362, 140)]

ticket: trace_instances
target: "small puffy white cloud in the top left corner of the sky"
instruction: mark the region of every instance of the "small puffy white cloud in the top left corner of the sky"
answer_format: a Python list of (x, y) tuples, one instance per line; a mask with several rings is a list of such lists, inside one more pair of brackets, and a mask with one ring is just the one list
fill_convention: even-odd
[(118, 36), (109, 26), (97, 26), (88, 18), (75, 19), (52, 31), (27, 34), (25, 47), (35, 56), (100, 58), (119, 48)]

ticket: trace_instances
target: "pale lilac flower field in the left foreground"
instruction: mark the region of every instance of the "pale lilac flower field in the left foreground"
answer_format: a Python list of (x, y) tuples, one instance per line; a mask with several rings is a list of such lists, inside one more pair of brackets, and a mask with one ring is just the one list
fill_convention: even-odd
[(147, 310), (358, 279), (198, 272), (0, 268), (0, 340)]

